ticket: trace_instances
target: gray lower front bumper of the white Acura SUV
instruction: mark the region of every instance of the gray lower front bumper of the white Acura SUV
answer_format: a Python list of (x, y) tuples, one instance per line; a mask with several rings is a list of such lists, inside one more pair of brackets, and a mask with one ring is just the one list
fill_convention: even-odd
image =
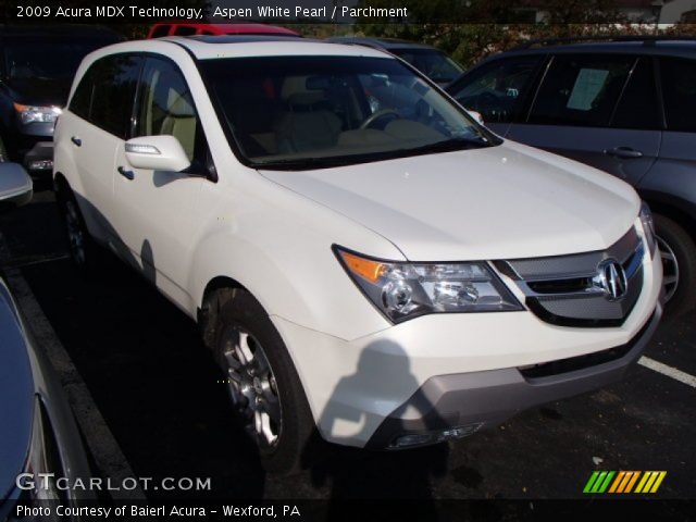
[[(469, 435), (530, 407), (611, 384), (641, 357), (661, 315), (662, 307), (658, 304), (630, 343), (587, 356), (523, 369), (431, 377), (383, 421), (366, 447), (394, 448), (394, 443), (407, 435), (453, 428), (460, 428), (460, 436)], [(435, 442), (438, 439), (434, 436), (425, 444)]]

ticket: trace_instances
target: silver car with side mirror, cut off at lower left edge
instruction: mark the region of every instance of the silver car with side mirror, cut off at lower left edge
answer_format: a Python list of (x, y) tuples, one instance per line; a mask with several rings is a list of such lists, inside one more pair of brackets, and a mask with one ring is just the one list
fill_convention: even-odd
[[(0, 209), (32, 198), (33, 184), (16, 163), (0, 162)], [(41, 474), (54, 474), (44, 480)], [(63, 388), (0, 278), (0, 521), (16, 505), (91, 499), (89, 492), (59, 487), (90, 477), (87, 455)]]

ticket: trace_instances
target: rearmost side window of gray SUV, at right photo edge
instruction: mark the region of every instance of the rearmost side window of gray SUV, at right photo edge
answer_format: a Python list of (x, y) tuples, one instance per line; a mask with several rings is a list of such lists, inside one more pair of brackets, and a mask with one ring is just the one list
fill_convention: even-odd
[(676, 58), (660, 62), (667, 128), (696, 132), (696, 61)]

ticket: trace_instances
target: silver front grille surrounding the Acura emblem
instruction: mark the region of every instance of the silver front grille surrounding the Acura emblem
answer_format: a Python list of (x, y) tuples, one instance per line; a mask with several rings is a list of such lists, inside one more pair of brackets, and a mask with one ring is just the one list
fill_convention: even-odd
[[(620, 326), (643, 290), (643, 241), (632, 227), (607, 250), (571, 256), (496, 262), (525, 294), (525, 303), (543, 321), (559, 326)], [(599, 265), (617, 260), (626, 290), (612, 299), (599, 283)]]

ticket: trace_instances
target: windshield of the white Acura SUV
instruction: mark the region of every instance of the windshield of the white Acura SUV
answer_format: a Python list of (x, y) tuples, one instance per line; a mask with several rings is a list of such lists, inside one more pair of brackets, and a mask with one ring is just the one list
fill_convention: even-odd
[(257, 166), (358, 163), (496, 139), (394, 59), (215, 59), (202, 71), (238, 151)]

